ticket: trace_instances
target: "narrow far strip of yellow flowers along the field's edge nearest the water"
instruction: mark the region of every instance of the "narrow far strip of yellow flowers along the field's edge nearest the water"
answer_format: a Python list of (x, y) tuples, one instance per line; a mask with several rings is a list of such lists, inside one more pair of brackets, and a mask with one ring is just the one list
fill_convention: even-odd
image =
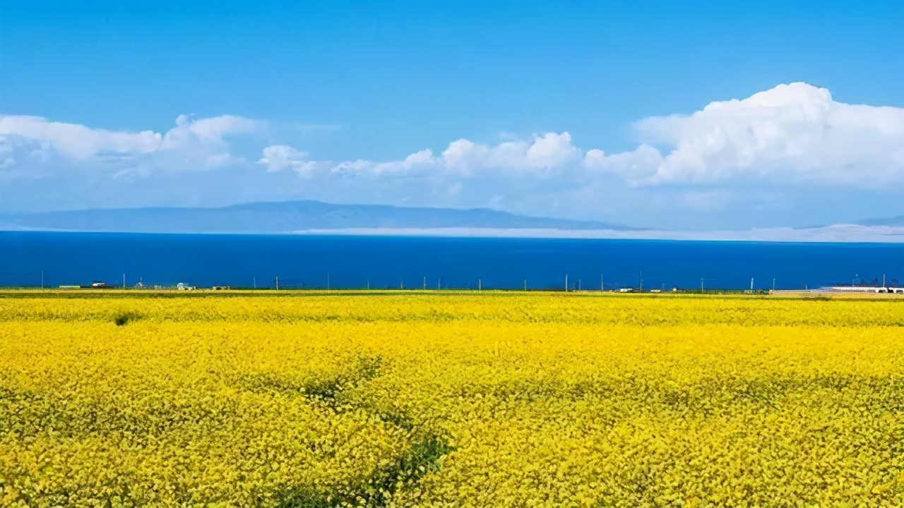
[(0, 320), (90, 322), (121, 318), (157, 322), (506, 321), (639, 326), (904, 326), (904, 301), (899, 298), (834, 299), (828, 303), (816, 298), (778, 299), (770, 296), (430, 291), (373, 296), (359, 292), (342, 297), (323, 292), (280, 295), (272, 291), (234, 293), (239, 296), (148, 297), (129, 292), (112, 293), (110, 297), (99, 295), (104, 296), (47, 292), (40, 298), (0, 297)]

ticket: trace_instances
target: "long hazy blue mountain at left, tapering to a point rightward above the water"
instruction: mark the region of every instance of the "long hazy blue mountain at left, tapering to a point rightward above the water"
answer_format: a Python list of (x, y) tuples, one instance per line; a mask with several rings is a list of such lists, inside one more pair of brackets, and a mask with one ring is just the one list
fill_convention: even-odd
[(437, 228), (636, 230), (606, 222), (527, 217), (483, 208), (452, 210), (316, 201), (252, 202), (222, 208), (124, 208), (0, 215), (0, 230), (287, 233)]

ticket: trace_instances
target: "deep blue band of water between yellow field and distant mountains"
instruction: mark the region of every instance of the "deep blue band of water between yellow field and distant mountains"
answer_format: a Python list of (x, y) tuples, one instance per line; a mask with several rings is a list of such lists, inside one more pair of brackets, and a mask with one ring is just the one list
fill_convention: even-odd
[[(43, 276), (42, 276), (43, 272)], [(0, 231), (0, 286), (747, 289), (904, 285), (904, 244)], [(643, 273), (643, 276), (641, 274)]]

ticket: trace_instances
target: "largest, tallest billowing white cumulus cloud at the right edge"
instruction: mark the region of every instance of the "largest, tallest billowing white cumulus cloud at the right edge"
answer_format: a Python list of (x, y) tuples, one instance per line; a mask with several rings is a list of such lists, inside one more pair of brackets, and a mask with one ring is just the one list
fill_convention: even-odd
[(806, 83), (712, 102), (689, 116), (645, 118), (634, 127), (645, 145), (609, 156), (591, 150), (585, 163), (642, 185), (736, 177), (861, 187), (904, 183), (904, 108), (836, 102), (829, 90)]

